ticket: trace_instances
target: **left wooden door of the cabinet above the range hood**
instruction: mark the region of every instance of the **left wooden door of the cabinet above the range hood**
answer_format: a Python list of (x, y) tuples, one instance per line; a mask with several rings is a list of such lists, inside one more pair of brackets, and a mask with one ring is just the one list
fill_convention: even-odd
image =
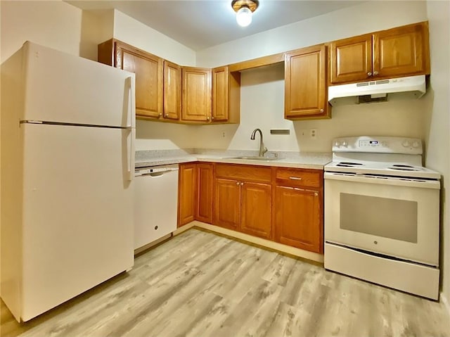
[(330, 83), (370, 80), (372, 76), (372, 34), (330, 43)]

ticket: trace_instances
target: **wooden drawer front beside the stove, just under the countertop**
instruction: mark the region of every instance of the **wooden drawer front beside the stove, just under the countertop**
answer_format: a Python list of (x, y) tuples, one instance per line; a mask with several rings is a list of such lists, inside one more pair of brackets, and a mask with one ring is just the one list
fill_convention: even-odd
[(320, 188), (323, 182), (321, 170), (276, 169), (276, 184), (283, 186), (310, 186)]

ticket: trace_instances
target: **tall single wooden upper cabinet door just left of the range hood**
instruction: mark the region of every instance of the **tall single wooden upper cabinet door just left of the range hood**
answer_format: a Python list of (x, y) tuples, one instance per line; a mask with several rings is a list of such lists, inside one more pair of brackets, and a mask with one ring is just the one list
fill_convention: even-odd
[(326, 48), (298, 49), (285, 55), (285, 118), (328, 117)]

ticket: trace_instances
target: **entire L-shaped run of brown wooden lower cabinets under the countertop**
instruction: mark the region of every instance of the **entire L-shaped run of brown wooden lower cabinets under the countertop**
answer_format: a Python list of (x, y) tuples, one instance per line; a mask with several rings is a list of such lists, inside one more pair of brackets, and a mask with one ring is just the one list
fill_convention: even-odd
[(179, 227), (193, 220), (322, 254), (323, 171), (181, 164)]

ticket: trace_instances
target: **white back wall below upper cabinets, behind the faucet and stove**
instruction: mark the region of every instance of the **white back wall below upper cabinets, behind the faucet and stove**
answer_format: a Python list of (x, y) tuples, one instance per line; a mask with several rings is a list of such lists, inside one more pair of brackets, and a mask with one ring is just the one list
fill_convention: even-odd
[[(384, 103), (334, 107), (330, 120), (285, 120), (283, 66), (248, 70), (241, 74), (240, 125), (205, 125), (198, 132), (196, 147), (256, 150), (250, 141), (256, 127), (264, 134), (269, 151), (330, 152), (338, 136), (413, 136), (425, 137), (428, 125), (428, 96), (417, 100), (397, 99)], [(309, 136), (317, 129), (316, 139)], [(289, 129), (290, 135), (272, 135), (270, 129)], [(225, 137), (222, 134), (225, 133)], [(207, 141), (205, 141), (207, 140)]]

